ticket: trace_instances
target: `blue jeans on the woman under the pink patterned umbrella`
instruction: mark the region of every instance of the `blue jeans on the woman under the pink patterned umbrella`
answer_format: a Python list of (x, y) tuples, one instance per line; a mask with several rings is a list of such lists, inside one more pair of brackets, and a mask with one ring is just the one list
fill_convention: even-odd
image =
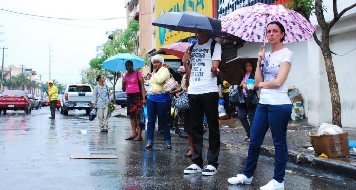
[(273, 144), (275, 148), (275, 166), (273, 179), (279, 183), (283, 182), (286, 164), (288, 160), (287, 150), (287, 125), (292, 113), (292, 105), (265, 105), (258, 104), (253, 126), (250, 131), (250, 144), (243, 174), (246, 177), (252, 177), (258, 157), (261, 144), (265, 138), (266, 132), (270, 127), (272, 132)]

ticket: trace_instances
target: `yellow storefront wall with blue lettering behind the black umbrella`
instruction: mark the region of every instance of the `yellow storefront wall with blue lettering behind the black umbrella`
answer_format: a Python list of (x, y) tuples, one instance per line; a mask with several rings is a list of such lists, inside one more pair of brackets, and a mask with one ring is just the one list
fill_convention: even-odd
[[(212, 17), (213, 1), (211, 0), (156, 0), (156, 18), (166, 12), (194, 11)], [(156, 27), (156, 49), (172, 44), (190, 36), (194, 33), (178, 32), (162, 27)], [(164, 58), (176, 59), (176, 56), (163, 55)]]

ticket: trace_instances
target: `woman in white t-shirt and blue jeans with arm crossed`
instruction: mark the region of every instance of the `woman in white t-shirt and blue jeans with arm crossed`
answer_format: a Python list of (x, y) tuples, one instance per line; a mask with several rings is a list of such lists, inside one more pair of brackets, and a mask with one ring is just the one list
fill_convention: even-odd
[(253, 127), (250, 131), (250, 144), (243, 174), (229, 178), (231, 184), (252, 182), (259, 150), (268, 128), (271, 129), (275, 147), (274, 177), (260, 189), (284, 189), (283, 178), (288, 159), (287, 125), (292, 112), (292, 104), (287, 95), (286, 79), (292, 63), (293, 53), (282, 44), (285, 29), (277, 21), (267, 25), (267, 40), (272, 51), (265, 53), (263, 47), (258, 53), (255, 73), (256, 85), (260, 88)]

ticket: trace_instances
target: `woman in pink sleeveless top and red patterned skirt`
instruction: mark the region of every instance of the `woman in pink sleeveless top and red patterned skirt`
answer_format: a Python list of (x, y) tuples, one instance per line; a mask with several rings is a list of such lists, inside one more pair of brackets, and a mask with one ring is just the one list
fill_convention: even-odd
[[(132, 135), (125, 140), (142, 141), (142, 127), (137, 125), (137, 121), (142, 104), (146, 103), (144, 80), (140, 72), (134, 71), (134, 63), (132, 61), (126, 61), (125, 67), (127, 74), (124, 75), (122, 80), (122, 91), (126, 91), (127, 94), (127, 116), (130, 116), (132, 129)], [(138, 128), (137, 136), (136, 128)]]

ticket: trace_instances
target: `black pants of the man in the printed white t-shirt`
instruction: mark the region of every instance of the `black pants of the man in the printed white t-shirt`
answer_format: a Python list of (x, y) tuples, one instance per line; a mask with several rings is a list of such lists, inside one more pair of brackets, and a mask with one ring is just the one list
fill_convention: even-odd
[(188, 94), (189, 111), (192, 122), (193, 154), (192, 161), (199, 167), (203, 167), (203, 118), (204, 113), (208, 119), (209, 148), (207, 153), (208, 164), (218, 167), (220, 153), (220, 129), (219, 129), (219, 93), (211, 92), (199, 95)]

